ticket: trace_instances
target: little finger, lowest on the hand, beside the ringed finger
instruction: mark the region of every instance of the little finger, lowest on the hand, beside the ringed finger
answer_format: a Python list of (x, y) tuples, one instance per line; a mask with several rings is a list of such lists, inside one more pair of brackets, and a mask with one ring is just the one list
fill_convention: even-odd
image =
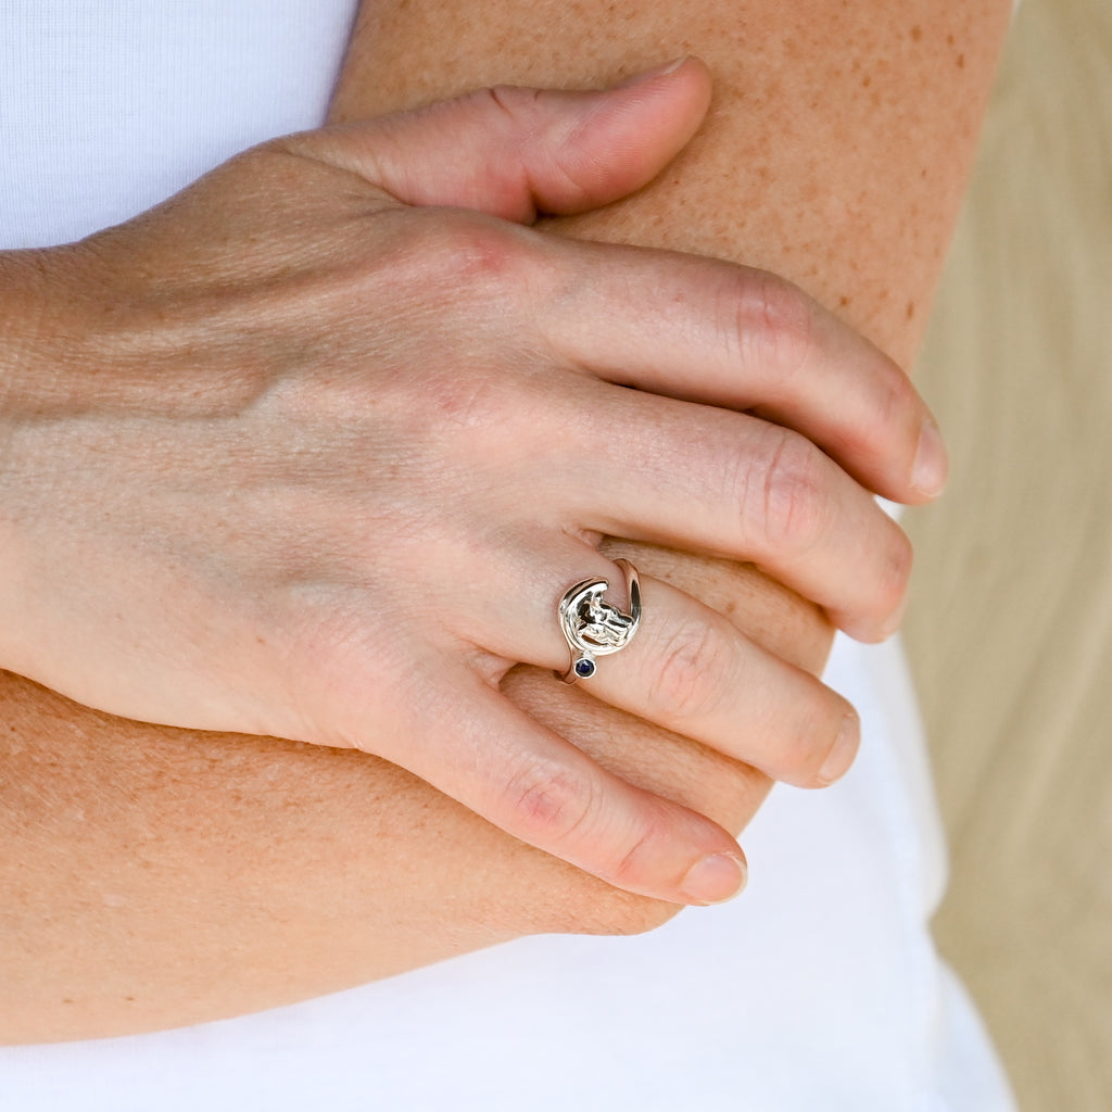
[(448, 665), (436, 683), (439, 713), (389, 759), (617, 887), (696, 904), (741, 891), (744, 855), (716, 823), (606, 772), (469, 671)]

